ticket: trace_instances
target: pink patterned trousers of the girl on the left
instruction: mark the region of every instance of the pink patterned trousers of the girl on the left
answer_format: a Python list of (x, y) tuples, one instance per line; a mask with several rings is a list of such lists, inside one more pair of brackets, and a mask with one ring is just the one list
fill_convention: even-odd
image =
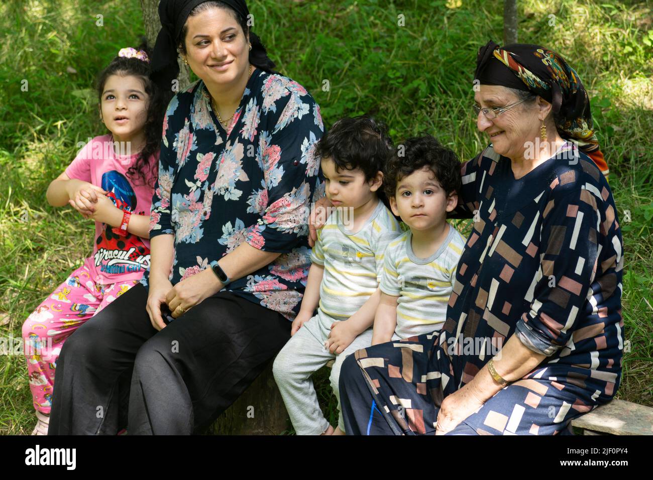
[(128, 280), (100, 285), (92, 280), (87, 264), (74, 270), (23, 324), (29, 388), (34, 408), (41, 413), (50, 413), (54, 372), (63, 342), (138, 283), (138, 280)]

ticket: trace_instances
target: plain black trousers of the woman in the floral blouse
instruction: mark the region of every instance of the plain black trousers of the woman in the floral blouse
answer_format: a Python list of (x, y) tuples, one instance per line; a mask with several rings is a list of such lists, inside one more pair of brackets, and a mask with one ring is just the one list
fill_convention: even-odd
[(65, 342), (48, 434), (201, 432), (290, 338), (283, 315), (230, 292), (157, 331), (147, 298), (135, 285)]

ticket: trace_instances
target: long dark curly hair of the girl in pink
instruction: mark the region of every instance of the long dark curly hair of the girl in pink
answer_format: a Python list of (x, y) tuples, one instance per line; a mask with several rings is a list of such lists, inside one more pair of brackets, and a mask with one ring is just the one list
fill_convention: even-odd
[[(144, 50), (151, 58), (151, 50), (148, 48), (144, 38), (136, 50)], [(135, 185), (145, 185), (148, 172), (150, 172), (151, 187), (157, 176), (159, 165), (157, 162), (150, 162), (150, 157), (159, 150), (161, 145), (161, 136), (163, 134), (163, 118), (168, 103), (172, 99), (172, 92), (163, 91), (154, 82), (150, 80), (150, 63), (138, 58), (114, 57), (109, 65), (99, 73), (95, 80), (95, 89), (97, 89), (98, 101), (102, 104), (102, 93), (106, 80), (111, 75), (118, 76), (136, 76), (143, 82), (145, 93), (148, 94), (147, 120), (144, 125), (145, 129), (145, 146), (140, 151), (134, 165), (127, 170), (127, 176), (131, 178)], [(150, 165), (151, 164), (151, 165)]]

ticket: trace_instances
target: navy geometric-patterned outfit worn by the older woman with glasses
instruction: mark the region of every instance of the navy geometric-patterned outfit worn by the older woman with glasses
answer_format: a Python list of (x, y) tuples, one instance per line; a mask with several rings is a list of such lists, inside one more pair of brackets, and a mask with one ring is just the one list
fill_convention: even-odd
[(571, 143), (518, 180), (492, 146), (461, 173), (456, 213), (475, 221), (443, 330), (358, 351), (358, 364), (395, 432), (433, 433), (443, 398), (517, 334), (548, 358), (452, 433), (559, 433), (620, 382), (623, 244), (610, 187)]

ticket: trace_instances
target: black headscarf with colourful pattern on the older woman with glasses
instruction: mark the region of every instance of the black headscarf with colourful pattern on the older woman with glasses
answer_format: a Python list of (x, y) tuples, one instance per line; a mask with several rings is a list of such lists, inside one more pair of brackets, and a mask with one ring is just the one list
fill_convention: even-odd
[(484, 85), (531, 91), (550, 102), (562, 138), (575, 142), (607, 178), (590, 99), (581, 78), (560, 55), (539, 45), (516, 43), (502, 48), (490, 40), (479, 49), (475, 78)]

